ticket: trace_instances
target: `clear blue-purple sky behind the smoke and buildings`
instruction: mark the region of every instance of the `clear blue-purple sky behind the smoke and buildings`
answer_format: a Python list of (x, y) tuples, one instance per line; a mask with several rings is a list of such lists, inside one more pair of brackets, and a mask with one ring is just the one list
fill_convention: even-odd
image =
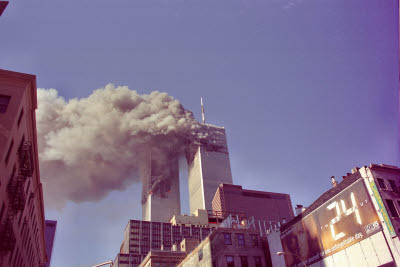
[[(198, 119), (203, 96), (207, 121), (226, 127), (234, 183), (309, 205), (332, 175), (400, 165), (398, 10), (397, 0), (10, 1), (0, 68), (66, 99), (110, 82), (165, 91)], [(46, 209), (58, 220), (52, 266), (114, 260), (140, 216), (139, 185)]]

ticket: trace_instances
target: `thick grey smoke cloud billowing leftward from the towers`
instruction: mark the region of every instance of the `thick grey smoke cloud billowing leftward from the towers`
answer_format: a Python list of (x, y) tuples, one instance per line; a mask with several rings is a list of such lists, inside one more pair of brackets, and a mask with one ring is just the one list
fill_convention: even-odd
[[(108, 84), (66, 101), (38, 89), (37, 133), (46, 205), (97, 201), (140, 182), (152, 160), (166, 170), (191, 140), (207, 138), (192, 112), (167, 93), (139, 95)], [(168, 159), (168, 160), (167, 160)]]

